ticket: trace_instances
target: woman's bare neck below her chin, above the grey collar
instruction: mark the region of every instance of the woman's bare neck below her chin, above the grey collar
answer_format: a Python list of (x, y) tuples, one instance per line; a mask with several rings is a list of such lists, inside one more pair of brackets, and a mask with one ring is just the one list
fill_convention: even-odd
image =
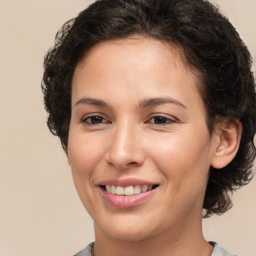
[(170, 230), (138, 241), (110, 237), (96, 224), (94, 228), (95, 256), (209, 256), (213, 249), (203, 238), (201, 219), (172, 227)]

